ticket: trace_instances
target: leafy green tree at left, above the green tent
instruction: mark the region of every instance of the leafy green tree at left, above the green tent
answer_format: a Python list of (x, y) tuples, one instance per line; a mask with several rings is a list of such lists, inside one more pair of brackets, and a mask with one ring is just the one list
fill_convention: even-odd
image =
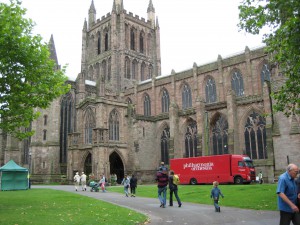
[(66, 93), (66, 67), (56, 70), (48, 44), (32, 35), (34, 23), (25, 18), (18, 0), (0, 3), (0, 129), (19, 139), (33, 134), (26, 129), (45, 109)]

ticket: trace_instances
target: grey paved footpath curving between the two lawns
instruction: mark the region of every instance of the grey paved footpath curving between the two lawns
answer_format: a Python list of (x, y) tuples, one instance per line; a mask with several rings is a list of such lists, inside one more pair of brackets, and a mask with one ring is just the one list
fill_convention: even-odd
[[(246, 210), (221, 206), (221, 213), (214, 212), (213, 205), (185, 203), (177, 207), (160, 208), (159, 200), (143, 197), (125, 197), (125, 195), (109, 192), (75, 192), (73, 185), (42, 186), (33, 185), (32, 188), (52, 188), (73, 192), (76, 194), (96, 198), (119, 206), (141, 212), (150, 218), (153, 225), (277, 225), (279, 224), (278, 211)], [(241, 201), (247, 201), (251, 196), (245, 196)]]

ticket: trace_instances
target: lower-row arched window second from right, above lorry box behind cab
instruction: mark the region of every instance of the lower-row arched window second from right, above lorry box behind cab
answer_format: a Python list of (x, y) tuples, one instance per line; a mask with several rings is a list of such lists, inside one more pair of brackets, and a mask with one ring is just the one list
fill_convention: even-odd
[(219, 115), (213, 121), (210, 142), (212, 155), (228, 154), (228, 122), (225, 116)]

